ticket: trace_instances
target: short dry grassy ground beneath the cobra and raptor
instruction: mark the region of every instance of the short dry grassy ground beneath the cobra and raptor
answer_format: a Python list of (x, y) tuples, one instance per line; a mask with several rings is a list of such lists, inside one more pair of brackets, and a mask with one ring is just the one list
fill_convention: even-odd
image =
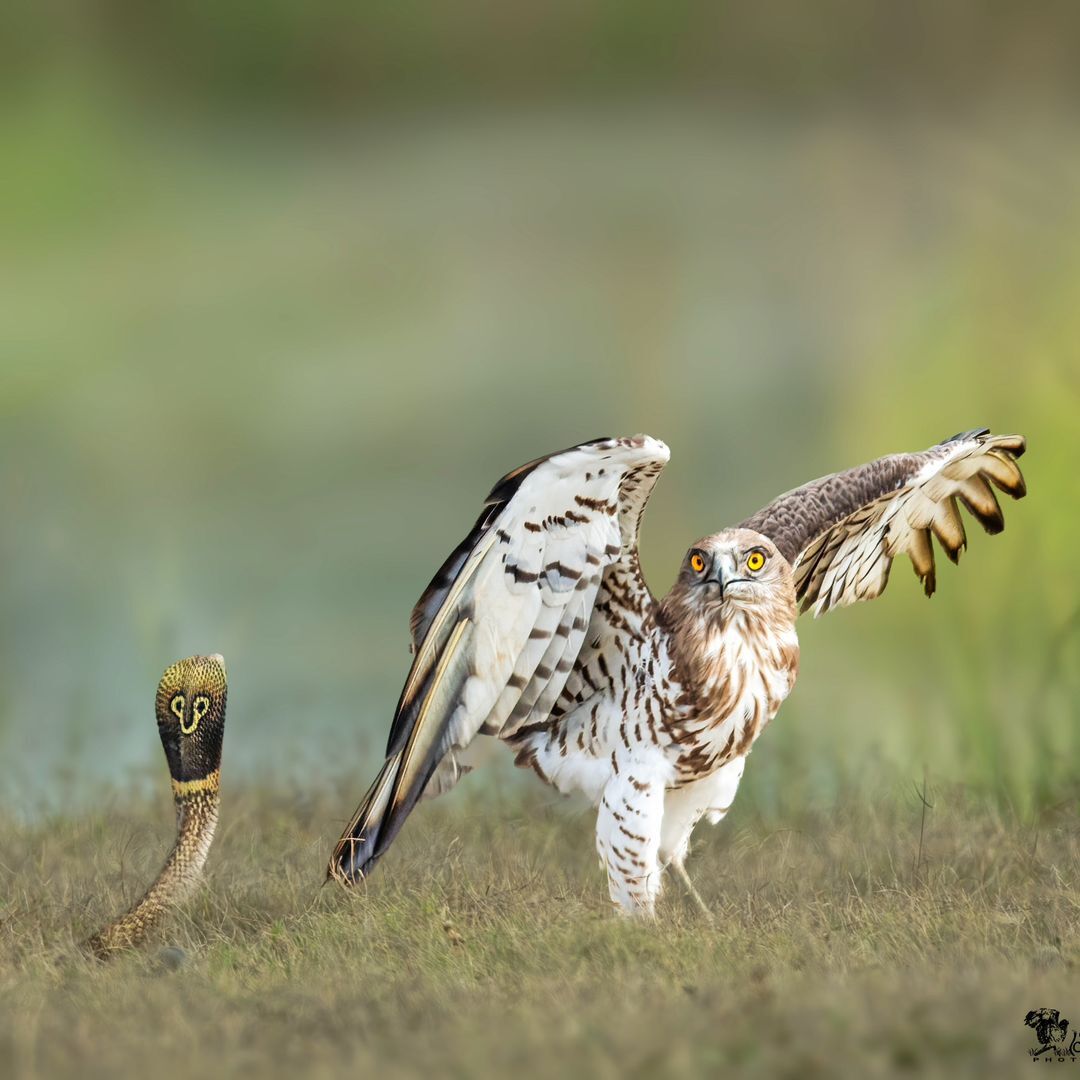
[(1080, 1008), (1080, 819), (930, 794), (737, 810), (692, 860), (711, 927), (674, 882), (613, 917), (591, 815), (545, 795), (422, 808), (350, 893), (319, 889), (348, 796), (227, 789), (206, 887), (109, 966), (73, 944), (156, 873), (167, 805), (2, 822), (0, 1075), (1018, 1071), (1027, 1011)]

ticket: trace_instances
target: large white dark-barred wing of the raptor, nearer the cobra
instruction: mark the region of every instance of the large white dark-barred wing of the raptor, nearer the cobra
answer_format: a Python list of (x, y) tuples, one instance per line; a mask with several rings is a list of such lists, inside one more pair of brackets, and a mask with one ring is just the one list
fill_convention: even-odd
[(604, 438), (496, 484), (413, 611), (413, 666), (387, 759), (334, 850), (332, 876), (364, 876), (424, 789), (454, 783), (477, 734), (505, 738), (551, 711), (609, 571), (620, 589), (648, 595), (637, 527), (667, 458), (647, 435)]

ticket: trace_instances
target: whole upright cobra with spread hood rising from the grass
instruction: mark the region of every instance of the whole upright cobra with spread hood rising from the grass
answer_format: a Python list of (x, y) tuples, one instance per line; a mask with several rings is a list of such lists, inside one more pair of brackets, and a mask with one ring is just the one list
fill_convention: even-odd
[(202, 878), (217, 826), (228, 693), (220, 656), (189, 657), (158, 684), (154, 712), (176, 805), (176, 842), (140, 900), (86, 942), (98, 957), (138, 945)]

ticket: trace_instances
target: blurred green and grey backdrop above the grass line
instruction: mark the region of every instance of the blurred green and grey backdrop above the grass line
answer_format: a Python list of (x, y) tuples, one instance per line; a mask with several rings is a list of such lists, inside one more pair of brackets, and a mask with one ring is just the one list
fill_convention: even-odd
[(159, 784), (157, 678), (220, 650), (227, 784), (343, 816), (501, 473), (666, 440), (663, 592), (777, 492), (983, 424), (1029, 436), (1030, 496), (931, 603), (897, 565), (801, 624), (740, 806), (923, 770), (1075, 799), (1078, 32), (1067, 3), (5, 4), (5, 805)]

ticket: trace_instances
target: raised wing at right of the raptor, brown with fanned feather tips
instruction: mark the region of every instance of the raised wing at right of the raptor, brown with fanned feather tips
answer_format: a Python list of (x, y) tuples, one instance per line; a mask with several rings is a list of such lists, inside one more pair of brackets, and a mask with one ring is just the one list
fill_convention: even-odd
[[(955, 563), (967, 544), (958, 503), (990, 534), (1004, 528), (999, 488), (1025, 495), (1022, 435), (964, 432), (918, 454), (894, 454), (788, 491), (743, 522), (769, 537), (795, 570), (801, 610), (814, 616), (879, 596), (892, 561), (907, 555), (928, 596), (937, 537)], [(991, 486), (993, 485), (993, 486)]]

